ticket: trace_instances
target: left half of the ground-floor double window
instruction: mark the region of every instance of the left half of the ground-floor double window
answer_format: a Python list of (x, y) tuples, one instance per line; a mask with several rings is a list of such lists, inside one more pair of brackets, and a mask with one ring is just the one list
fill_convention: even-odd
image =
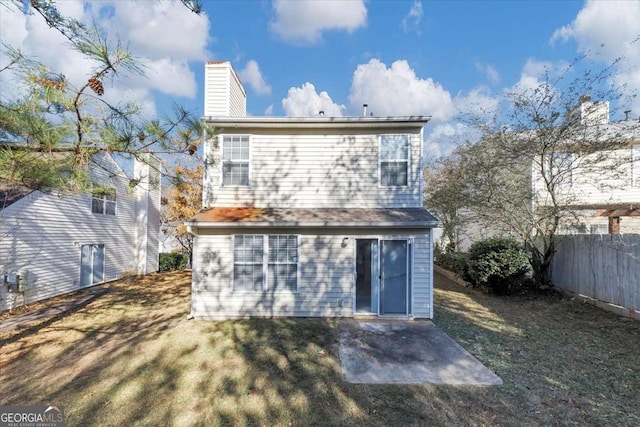
[(235, 236), (233, 259), (234, 289), (262, 290), (264, 284), (264, 236)]

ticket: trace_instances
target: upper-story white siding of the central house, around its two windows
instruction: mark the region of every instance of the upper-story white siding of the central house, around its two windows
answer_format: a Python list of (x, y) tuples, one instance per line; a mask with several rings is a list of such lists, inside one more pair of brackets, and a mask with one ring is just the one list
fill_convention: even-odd
[(422, 207), (421, 134), (403, 134), (414, 160), (400, 187), (380, 185), (377, 133), (251, 133), (250, 187), (223, 185), (220, 144), (209, 143), (204, 207)]

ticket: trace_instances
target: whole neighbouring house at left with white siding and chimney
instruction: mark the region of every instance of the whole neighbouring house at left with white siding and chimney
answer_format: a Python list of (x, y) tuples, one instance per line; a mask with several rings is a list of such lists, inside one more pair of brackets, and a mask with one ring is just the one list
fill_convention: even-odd
[(132, 181), (96, 155), (90, 172), (100, 190), (92, 194), (0, 187), (0, 310), (157, 271), (158, 168), (136, 161)]

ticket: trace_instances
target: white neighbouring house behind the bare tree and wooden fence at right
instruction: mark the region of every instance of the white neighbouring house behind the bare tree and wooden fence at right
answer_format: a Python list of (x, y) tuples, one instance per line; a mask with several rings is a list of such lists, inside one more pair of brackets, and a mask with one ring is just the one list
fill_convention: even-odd
[[(575, 114), (594, 138), (620, 141), (620, 148), (580, 156), (555, 152), (548, 169), (558, 179), (556, 203), (575, 214), (560, 233), (640, 233), (640, 123), (611, 122), (609, 103), (582, 101)], [(532, 168), (534, 207), (551, 204), (539, 167)]]

